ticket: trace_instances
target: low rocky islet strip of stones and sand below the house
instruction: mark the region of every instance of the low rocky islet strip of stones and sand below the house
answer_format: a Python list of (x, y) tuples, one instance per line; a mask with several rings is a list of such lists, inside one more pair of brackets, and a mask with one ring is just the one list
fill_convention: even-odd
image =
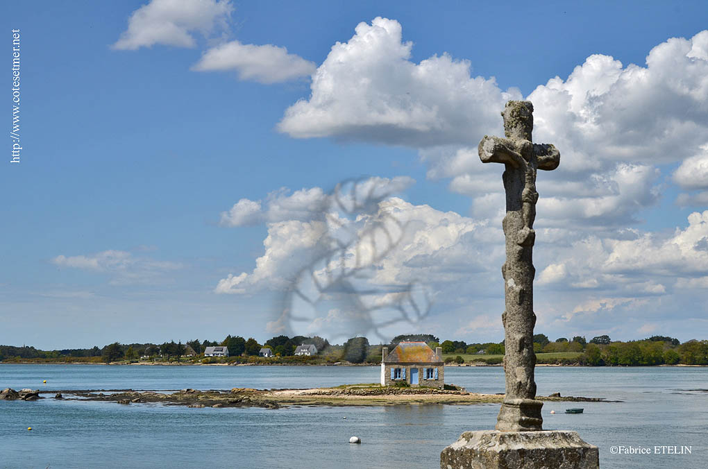
[[(258, 390), (232, 388), (231, 390), (195, 390), (176, 392), (149, 390), (30, 390), (15, 391), (6, 388), (0, 400), (38, 400), (48, 398), (76, 401), (104, 401), (122, 405), (161, 404), (187, 407), (263, 407), (282, 406), (349, 406), (349, 405), (409, 405), (450, 404), (469, 405), (501, 403), (503, 394), (468, 393), (463, 388), (439, 390), (433, 388), (382, 388), (378, 385), (350, 385), (336, 388)], [(53, 396), (52, 396), (53, 395)], [(561, 396), (555, 393), (538, 396), (539, 400), (564, 402), (619, 402), (604, 398)]]

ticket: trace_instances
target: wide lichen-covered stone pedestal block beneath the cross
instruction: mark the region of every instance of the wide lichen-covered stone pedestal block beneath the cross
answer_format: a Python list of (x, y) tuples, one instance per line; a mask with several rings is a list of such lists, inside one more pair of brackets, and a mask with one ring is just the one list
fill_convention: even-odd
[(440, 453), (440, 469), (598, 468), (598, 447), (576, 432), (464, 432)]

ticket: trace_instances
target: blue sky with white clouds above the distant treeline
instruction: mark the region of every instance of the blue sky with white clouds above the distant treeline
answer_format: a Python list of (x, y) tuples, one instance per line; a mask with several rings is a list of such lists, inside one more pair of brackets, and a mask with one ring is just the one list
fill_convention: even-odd
[[(537, 332), (708, 337), (704, 2), (2, 8), (23, 152), (0, 172), (0, 343), (501, 340), (501, 168), (476, 144), (509, 98), (561, 151)], [(346, 282), (307, 284), (336, 241)]]

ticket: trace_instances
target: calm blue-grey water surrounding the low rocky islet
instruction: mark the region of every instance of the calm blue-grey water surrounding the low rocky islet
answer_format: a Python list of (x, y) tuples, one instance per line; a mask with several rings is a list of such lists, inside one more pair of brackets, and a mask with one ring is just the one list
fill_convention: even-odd
[[(83, 366), (0, 364), (0, 388), (311, 388), (373, 383), (368, 366)], [(42, 385), (42, 380), (47, 385)], [(445, 381), (501, 393), (500, 367), (448, 367)], [(707, 368), (536, 369), (539, 394), (622, 403), (545, 403), (544, 428), (569, 429), (616, 468), (707, 468)], [(566, 407), (584, 407), (566, 415)], [(551, 415), (550, 410), (556, 410)], [(161, 405), (0, 401), (0, 469), (438, 468), (466, 430), (492, 429), (498, 405), (189, 409)], [(344, 419), (343, 417), (347, 417)], [(31, 432), (27, 427), (33, 427)], [(352, 435), (361, 445), (348, 444)], [(684, 455), (614, 455), (612, 446), (686, 445)]]

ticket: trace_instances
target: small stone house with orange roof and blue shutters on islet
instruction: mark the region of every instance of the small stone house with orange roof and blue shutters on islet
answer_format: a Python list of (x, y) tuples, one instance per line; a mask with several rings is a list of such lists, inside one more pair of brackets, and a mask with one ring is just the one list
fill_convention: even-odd
[(445, 386), (445, 363), (442, 348), (435, 352), (426, 342), (400, 342), (389, 353), (382, 349), (381, 386), (394, 386), (405, 381), (410, 386), (428, 386), (442, 389)]

